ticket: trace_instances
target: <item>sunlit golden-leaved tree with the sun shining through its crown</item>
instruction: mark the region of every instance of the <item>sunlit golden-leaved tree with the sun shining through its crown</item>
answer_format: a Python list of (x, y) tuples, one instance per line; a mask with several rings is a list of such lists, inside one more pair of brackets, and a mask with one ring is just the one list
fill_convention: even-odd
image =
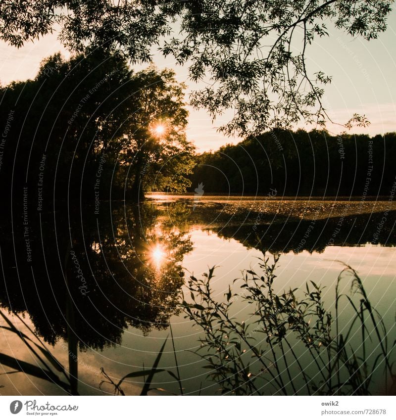
[(138, 81), (133, 102), (136, 111), (128, 117), (128, 134), (120, 153), (125, 168), (128, 196), (137, 200), (147, 190), (185, 191), (190, 187), (194, 146), (187, 140), (186, 86), (172, 70), (154, 66), (135, 75)]

